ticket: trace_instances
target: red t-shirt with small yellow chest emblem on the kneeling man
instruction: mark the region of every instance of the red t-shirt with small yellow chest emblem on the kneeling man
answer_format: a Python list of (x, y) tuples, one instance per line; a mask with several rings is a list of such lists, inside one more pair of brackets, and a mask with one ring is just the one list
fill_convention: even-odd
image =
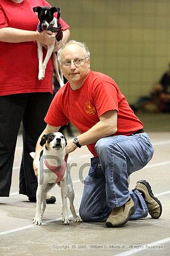
[[(130, 135), (143, 129), (143, 123), (131, 110), (126, 98), (111, 77), (90, 71), (78, 90), (71, 90), (69, 82), (54, 97), (45, 117), (52, 126), (62, 126), (69, 121), (84, 133), (100, 121), (99, 117), (109, 110), (117, 110), (117, 133)], [(94, 156), (95, 143), (87, 145)]]

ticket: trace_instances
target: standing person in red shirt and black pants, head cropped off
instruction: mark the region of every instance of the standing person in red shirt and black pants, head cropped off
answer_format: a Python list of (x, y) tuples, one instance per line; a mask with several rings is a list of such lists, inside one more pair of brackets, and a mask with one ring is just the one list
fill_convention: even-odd
[[(0, 196), (9, 196), (16, 139), (23, 122), (23, 156), (19, 193), (36, 201), (37, 178), (29, 152), (45, 128), (44, 117), (53, 98), (53, 63), (50, 58), (44, 80), (38, 80), (37, 43), (50, 46), (55, 34), (36, 31), (39, 20), (35, 6), (50, 6), (44, 0), (1, 0), (0, 2)], [(56, 14), (55, 14), (56, 15)], [(60, 19), (63, 39), (70, 36), (69, 25)], [(44, 48), (44, 55), (46, 49)], [(50, 197), (47, 203), (56, 200)]]

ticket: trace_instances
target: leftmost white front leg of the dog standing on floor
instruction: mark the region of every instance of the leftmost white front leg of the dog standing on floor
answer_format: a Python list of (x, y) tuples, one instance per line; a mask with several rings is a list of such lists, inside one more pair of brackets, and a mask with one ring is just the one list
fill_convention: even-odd
[(41, 225), (42, 222), (42, 216), (41, 216), (41, 204), (42, 204), (42, 186), (38, 185), (37, 187), (37, 193), (36, 193), (36, 214), (33, 218), (33, 223), (36, 225)]

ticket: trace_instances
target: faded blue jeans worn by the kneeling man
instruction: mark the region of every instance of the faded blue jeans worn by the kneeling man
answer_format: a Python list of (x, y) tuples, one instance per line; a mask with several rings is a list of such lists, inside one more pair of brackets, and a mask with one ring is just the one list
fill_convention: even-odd
[(146, 217), (145, 200), (137, 189), (129, 191), (128, 177), (151, 160), (154, 148), (148, 134), (117, 135), (99, 139), (95, 150), (99, 157), (91, 159), (91, 168), (84, 179), (80, 204), (83, 221), (106, 221), (111, 210), (121, 207), (131, 197), (135, 213), (130, 220)]

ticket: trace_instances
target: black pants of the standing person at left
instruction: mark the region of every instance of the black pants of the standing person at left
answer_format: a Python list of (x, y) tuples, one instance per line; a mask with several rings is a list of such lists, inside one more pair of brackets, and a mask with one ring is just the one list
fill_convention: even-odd
[(29, 152), (45, 129), (45, 114), (52, 101), (50, 93), (24, 93), (0, 97), (0, 196), (9, 196), (16, 140), (23, 121), (23, 154), (19, 193), (36, 196), (37, 178)]

